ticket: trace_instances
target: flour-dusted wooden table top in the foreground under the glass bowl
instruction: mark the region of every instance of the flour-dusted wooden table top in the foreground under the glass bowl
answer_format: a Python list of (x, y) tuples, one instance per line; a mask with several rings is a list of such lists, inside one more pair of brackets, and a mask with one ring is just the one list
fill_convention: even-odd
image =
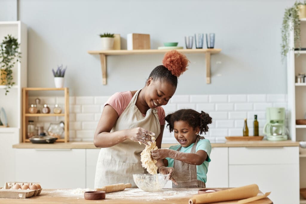
[[(139, 188), (125, 189), (124, 191), (106, 194), (105, 200), (85, 200), (84, 194), (75, 194), (75, 189), (43, 189), (38, 196), (30, 198), (0, 198), (0, 203), (24, 203), (24, 204), (45, 204), (45, 203), (164, 203), (164, 204), (187, 204), (192, 195), (197, 194), (200, 188), (164, 188), (158, 192), (146, 192)], [(82, 189), (84, 190), (84, 189)], [(263, 195), (259, 192), (258, 195)], [(233, 204), (237, 201), (218, 202), (219, 204)], [(249, 202), (250, 204), (270, 204), (269, 198)], [(215, 203), (217, 204), (217, 203)]]

